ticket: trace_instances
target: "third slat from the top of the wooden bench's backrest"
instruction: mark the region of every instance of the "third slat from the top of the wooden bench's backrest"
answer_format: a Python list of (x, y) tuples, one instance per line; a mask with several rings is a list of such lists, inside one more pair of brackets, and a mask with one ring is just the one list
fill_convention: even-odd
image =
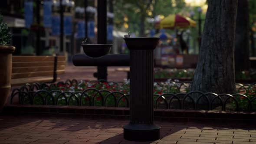
[[(53, 71), (54, 66), (33, 66), (33, 67), (16, 67), (12, 69), (12, 73), (24, 73), (24, 72), (44, 72)], [(65, 65), (57, 66), (57, 70), (64, 70)]]

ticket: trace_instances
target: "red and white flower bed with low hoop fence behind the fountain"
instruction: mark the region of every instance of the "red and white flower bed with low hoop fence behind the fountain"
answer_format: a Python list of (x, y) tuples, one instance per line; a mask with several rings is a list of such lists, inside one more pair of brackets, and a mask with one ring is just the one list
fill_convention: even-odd
[[(154, 82), (154, 107), (226, 111), (256, 111), (256, 86), (237, 85), (238, 94), (189, 92), (189, 83), (168, 80)], [(20, 104), (129, 106), (129, 80), (97, 82), (76, 80), (52, 85), (27, 85), (12, 93), (19, 95)], [(29, 88), (26, 88), (29, 87)], [(23, 92), (21, 92), (23, 89)], [(248, 107), (252, 103), (252, 108)]]

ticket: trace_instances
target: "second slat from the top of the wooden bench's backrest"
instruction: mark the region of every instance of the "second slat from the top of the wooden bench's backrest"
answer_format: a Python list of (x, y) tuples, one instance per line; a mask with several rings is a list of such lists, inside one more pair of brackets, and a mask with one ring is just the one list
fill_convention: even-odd
[[(16, 67), (31, 67), (31, 66), (51, 66), (54, 65), (53, 61), (46, 62), (13, 62), (13, 68)], [(65, 61), (58, 61), (57, 65), (66, 65)]]

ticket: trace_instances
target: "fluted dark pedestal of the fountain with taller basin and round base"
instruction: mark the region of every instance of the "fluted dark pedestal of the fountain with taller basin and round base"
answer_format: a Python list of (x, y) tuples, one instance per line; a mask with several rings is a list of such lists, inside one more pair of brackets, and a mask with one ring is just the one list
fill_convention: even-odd
[(154, 141), (160, 127), (154, 124), (154, 55), (159, 38), (125, 38), (130, 49), (130, 123), (125, 125), (128, 141)]

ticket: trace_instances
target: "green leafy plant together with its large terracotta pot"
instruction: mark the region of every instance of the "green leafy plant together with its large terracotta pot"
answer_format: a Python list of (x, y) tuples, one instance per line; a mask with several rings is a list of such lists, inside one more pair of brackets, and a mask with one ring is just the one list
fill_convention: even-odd
[(12, 53), (15, 47), (10, 46), (11, 34), (3, 16), (0, 14), (0, 111), (6, 103), (11, 88)]

